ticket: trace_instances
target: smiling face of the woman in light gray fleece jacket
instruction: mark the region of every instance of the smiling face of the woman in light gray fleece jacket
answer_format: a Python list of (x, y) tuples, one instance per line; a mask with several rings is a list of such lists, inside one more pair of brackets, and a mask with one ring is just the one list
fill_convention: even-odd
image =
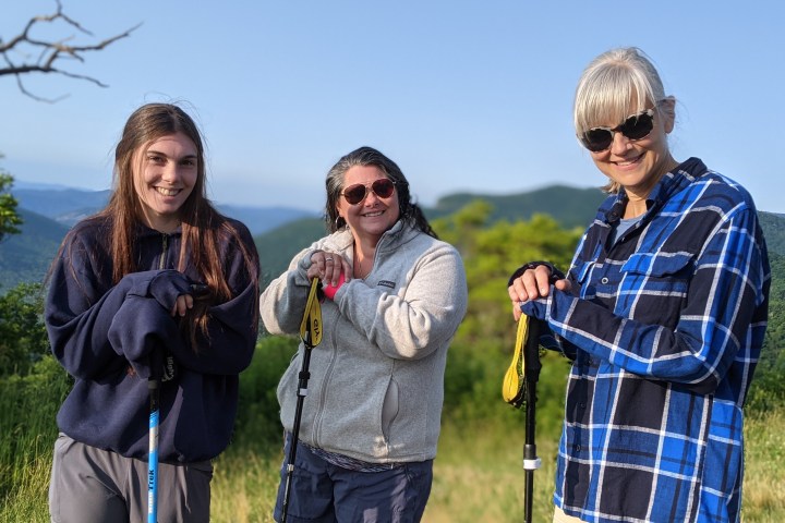
[(388, 198), (371, 191), (371, 184), (383, 178), (387, 177), (376, 166), (354, 166), (343, 175), (341, 191), (358, 183), (366, 186), (365, 197), (359, 204), (351, 205), (343, 196), (339, 196), (336, 204), (338, 215), (349, 224), (357, 242), (376, 245), (382, 234), (400, 217), (397, 190)]

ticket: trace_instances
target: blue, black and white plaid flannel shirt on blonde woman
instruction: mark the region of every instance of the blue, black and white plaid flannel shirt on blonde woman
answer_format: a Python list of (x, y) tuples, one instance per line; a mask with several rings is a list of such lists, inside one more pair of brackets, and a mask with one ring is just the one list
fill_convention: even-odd
[(691, 158), (612, 243), (624, 198), (587, 230), (570, 293), (522, 306), (573, 360), (554, 502), (587, 522), (738, 522), (771, 281), (754, 204)]

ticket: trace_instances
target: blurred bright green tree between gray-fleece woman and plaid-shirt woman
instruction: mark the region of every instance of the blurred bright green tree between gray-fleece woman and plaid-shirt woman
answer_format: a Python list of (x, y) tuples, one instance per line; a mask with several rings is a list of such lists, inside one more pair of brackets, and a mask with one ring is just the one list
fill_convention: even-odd
[[(520, 423), (519, 413), (510, 413), (502, 399), (516, 332), (507, 281), (518, 267), (533, 260), (566, 270), (582, 232), (565, 230), (544, 215), (492, 223), (493, 214), (491, 204), (474, 200), (432, 220), (439, 238), (460, 251), (469, 287), (469, 308), (450, 345), (445, 376), (445, 419), (462, 426), (482, 419)], [(557, 431), (568, 366), (555, 354), (543, 357), (547, 363), (540, 378), (538, 423)]]

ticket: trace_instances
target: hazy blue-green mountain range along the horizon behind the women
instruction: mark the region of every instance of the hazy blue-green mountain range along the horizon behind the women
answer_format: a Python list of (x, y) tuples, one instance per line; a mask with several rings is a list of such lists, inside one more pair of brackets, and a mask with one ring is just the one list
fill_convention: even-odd
[[(109, 191), (29, 184), (12, 193), (24, 223), (21, 234), (9, 235), (0, 243), (0, 293), (22, 281), (41, 281), (68, 229), (102, 208), (109, 198)], [(491, 221), (528, 220), (534, 214), (547, 214), (565, 228), (582, 228), (594, 217), (603, 198), (604, 194), (596, 188), (552, 185), (509, 195), (452, 194), (423, 211), (428, 219), (435, 219), (456, 212), (471, 200), (484, 199), (493, 206)], [(254, 234), (265, 281), (286, 269), (298, 251), (325, 234), (322, 219), (302, 209), (217, 207), (244, 222)], [(785, 255), (785, 215), (760, 216), (770, 252)]]

